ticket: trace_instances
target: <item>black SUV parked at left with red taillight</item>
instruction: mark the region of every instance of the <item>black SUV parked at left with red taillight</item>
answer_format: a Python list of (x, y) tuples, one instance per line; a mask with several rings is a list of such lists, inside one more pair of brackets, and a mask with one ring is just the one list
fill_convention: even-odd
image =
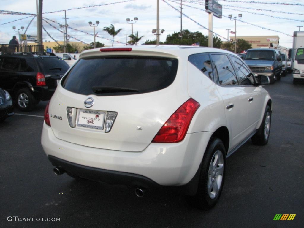
[(21, 111), (49, 100), (69, 65), (53, 53), (27, 52), (0, 55), (0, 86)]

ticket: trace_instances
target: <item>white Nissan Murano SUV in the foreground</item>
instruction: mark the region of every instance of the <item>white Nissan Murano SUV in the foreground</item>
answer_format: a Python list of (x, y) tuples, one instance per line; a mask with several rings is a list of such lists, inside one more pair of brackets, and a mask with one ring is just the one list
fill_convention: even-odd
[(57, 175), (128, 185), (138, 196), (176, 188), (211, 208), (226, 157), (250, 138), (268, 142), (272, 102), (259, 80), (219, 49), (88, 50), (47, 105), (41, 143)]

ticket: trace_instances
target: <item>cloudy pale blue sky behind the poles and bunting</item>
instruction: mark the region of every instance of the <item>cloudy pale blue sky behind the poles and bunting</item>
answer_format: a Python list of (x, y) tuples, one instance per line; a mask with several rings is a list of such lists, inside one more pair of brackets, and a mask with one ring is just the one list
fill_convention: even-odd
[[(133, 32), (138, 32), (139, 36), (144, 36), (139, 42), (140, 44), (146, 40), (154, 40), (155, 35), (151, 33), (152, 29), (156, 28), (156, 2), (157, 0), (104, 0), (104, 1), (83, 1), (83, 0), (44, 0), (43, 12), (54, 12), (59, 10), (67, 10), (67, 24), (75, 29), (93, 33), (93, 28), (88, 25), (89, 21), (93, 23), (99, 21), (100, 24), (96, 28), (98, 36), (103, 38), (97, 38), (96, 41), (102, 42), (105, 45), (112, 45), (110, 41), (112, 38), (109, 34), (102, 31), (105, 26), (113, 24), (117, 29), (123, 30), (119, 35), (115, 36), (114, 40), (125, 43), (125, 34), (131, 34), (131, 25), (127, 24), (126, 18), (133, 19), (138, 17), (136, 24), (133, 24)], [(174, 10), (180, 9), (180, 0), (159, 0), (160, 1), (160, 29), (164, 29), (165, 32), (161, 35), (161, 41), (166, 40), (168, 34), (180, 31), (180, 13)], [(234, 31), (234, 22), (227, 18), (229, 14), (237, 16), (239, 13), (243, 14), (241, 21), (237, 21), (237, 35), (238, 36), (258, 36), (258, 35), (278, 35), (280, 37), (280, 44), (284, 47), (292, 47), (292, 34), (294, 31), (299, 31), (297, 26), (304, 26), (304, 1), (303, 0), (257, 0), (252, 3), (249, 0), (221, 0), (218, 1), (223, 5), (223, 18), (213, 19), (213, 31), (222, 37), (227, 37), (226, 29)], [(250, 0), (251, 1), (251, 0)], [(118, 2), (118, 3), (117, 3)], [(168, 4), (166, 4), (166, 2)], [(178, 4), (179, 2), (179, 4)], [(205, 1), (203, 0), (183, 0), (183, 13), (188, 16), (182, 17), (183, 29), (188, 29), (191, 32), (199, 31), (204, 35), (208, 35), (208, 30), (204, 27), (208, 27), (208, 14), (204, 11), (204, 6), (201, 5)], [(288, 5), (279, 4), (262, 4), (262, 3), (285, 3)], [(102, 6), (95, 6), (75, 9), (85, 6), (109, 4)], [(300, 5), (292, 5), (300, 4)], [(36, 13), (36, 0), (0, 0), (1, 10), (23, 12), (23, 13)], [(192, 7), (190, 7), (192, 6)], [(199, 9), (195, 9), (199, 8)], [(249, 8), (249, 9), (245, 9)], [(1, 11), (0, 11), (1, 13)], [(254, 14), (255, 13), (255, 14)], [(258, 14), (264, 14), (269, 16), (263, 16)], [(58, 23), (64, 24), (62, 19), (64, 12), (54, 12), (43, 14), (43, 17), (51, 19)], [(16, 29), (24, 26), (28, 26), (31, 17), (22, 19), (16, 22), (12, 22), (17, 19), (26, 17), (27, 15), (3, 15), (0, 14), (0, 43), (8, 43), (12, 39), (13, 35), (18, 35), (12, 29), (12, 26), (16, 26)], [(226, 16), (226, 17), (225, 17)], [(279, 17), (279, 18), (278, 18)], [(200, 25), (196, 24), (198, 22)], [(8, 24), (3, 24), (12, 22)], [(49, 21), (53, 26), (59, 29), (59, 25)], [(246, 23), (247, 22), (247, 23)], [(250, 25), (250, 24), (254, 25)], [(43, 26), (47, 32), (55, 40), (63, 40), (63, 35), (52, 26), (43, 22)], [(260, 27), (266, 28), (262, 29)], [(275, 31), (271, 31), (271, 30)], [(304, 27), (301, 28), (304, 31)], [(281, 32), (281, 33), (280, 33)], [(68, 29), (67, 33), (83, 42), (90, 43), (93, 41), (93, 36), (82, 32), (78, 32), (72, 29)], [(285, 34), (283, 34), (285, 33)], [(36, 19), (29, 26), (26, 34), (36, 35)], [(107, 40), (109, 39), (109, 40)], [(128, 38), (129, 39), (129, 38)], [(223, 40), (223, 38), (221, 38)], [(53, 41), (47, 33), (43, 31), (43, 41)], [(76, 41), (71, 39), (71, 41)], [(114, 45), (119, 45), (115, 43)]]

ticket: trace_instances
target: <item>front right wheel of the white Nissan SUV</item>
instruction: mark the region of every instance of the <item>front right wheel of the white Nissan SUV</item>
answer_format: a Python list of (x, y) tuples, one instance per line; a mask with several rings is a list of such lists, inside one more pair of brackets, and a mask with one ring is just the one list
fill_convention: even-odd
[(251, 141), (254, 145), (264, 146), (268, 143), (268, 139), (270, 135), (270, 126), (271, 126), (271, 110), (270, 107), (267, 105), (261, 126), (258, 132), (251, 137)]

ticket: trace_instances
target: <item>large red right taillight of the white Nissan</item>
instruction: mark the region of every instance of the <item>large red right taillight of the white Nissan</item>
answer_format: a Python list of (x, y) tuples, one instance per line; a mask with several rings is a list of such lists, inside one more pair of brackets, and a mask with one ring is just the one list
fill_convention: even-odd
[(158, 131), (152, 143), (177, 143), (185, 138), (199, 102), (190, 98), (182, 104)]

